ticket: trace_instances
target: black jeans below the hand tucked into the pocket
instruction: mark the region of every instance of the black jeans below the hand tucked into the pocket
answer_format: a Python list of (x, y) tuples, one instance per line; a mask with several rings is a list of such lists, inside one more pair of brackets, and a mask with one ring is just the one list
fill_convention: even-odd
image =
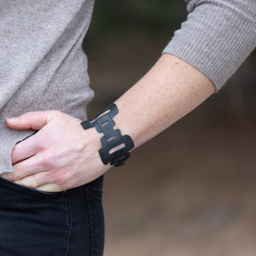
[(0, 255), (102, 256), (102, 183), (47, 193), (0, 177)]

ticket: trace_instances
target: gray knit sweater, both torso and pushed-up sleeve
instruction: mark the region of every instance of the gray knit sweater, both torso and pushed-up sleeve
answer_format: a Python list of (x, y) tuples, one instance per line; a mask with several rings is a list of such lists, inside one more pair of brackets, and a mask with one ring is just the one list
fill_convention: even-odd
[[(93, 97), (81, 48), (94, 0), (0, 2), (0, 173), (12, 172), (15, 143), (33, 131), (15, 131), (5, 119), (57, 109), (86, 119)], [(191, 0), (164, 53), (177, 55), (212, 79), (217, 90), (256, 45), (255, 0)]]

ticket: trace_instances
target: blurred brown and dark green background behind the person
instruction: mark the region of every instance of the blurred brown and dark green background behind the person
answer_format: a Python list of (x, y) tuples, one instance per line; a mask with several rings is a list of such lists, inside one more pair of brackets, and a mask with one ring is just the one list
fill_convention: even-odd
[[(90, 117), (148, 71), (186, 15), (182, 0), (96, 1)], [(105, 256), (255, 255), (255, 60), (105, 175)]]

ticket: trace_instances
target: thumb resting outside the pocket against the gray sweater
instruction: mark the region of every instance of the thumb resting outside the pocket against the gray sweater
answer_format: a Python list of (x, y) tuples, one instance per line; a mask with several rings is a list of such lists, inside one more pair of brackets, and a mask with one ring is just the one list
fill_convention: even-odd
[(15, 130), (40, 130), (60, 115), (61, 112), (56, 110), (27, 112), (19, 117), (6, 119), (6, 124)]

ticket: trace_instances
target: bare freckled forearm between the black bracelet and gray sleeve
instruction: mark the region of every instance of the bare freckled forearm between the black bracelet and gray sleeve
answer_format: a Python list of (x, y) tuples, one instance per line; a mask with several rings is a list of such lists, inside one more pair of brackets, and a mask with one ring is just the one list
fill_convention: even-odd
[(160, 57), (154, 67), (115, 103), (116, 128), (131, 136), (135, 147), (196, 108), (215, 91), (212, 81), (174, 55)]

